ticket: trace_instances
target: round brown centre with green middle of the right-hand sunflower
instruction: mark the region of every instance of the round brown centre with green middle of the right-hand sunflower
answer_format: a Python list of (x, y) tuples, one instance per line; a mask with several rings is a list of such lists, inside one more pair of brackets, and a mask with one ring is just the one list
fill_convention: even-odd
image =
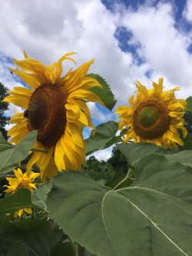
[(169, 110), (157, 98), (147, 98), (134, 111), (134, 131), (144, 139), (159, 138), (169, 129)]

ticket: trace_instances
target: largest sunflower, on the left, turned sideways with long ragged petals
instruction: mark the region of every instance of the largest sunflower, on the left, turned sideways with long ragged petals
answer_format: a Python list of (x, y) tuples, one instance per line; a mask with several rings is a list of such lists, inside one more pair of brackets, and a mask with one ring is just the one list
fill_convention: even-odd
[[(61, 77), (61, 62), (71, 60), (68, 53), (58, 62), (45, 66), (35, 59), (17, 61), (18, 69), (12, 69), (30, 88), (15, 87), (5, 101), (25, 109), (11, 119), (15, 126), (8, 131), (11, 142), (18, 144), (29, 131), (38, 130), (35, 151), (27, 165), (28, 174), (36, 163), (41, 171), (41, 179), (51, 178), (57, 171), (81, 169), (85, 163), (85, 142), (82, 135), (84, 126), (94, 128), (86, 101), (104, 103), (90, 88), (98, 86), (97, 80), (86, 76), (94, 60), (79, 68), (69, 70)], [(75, 63), (75, 62), (74, 62)]]

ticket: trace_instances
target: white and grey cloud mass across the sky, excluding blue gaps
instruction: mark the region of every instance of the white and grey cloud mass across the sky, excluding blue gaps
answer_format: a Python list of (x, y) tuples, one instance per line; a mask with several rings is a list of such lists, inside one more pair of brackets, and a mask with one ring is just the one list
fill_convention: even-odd
[[(108, 81), (118, 105), (127, 103), (136, 80), (151, 86), (147, 71), (151, 71), (151, 78), (164, 76), (169, 85), (179, 85), (187, 97), (192, 78), (191, 55), (187, 52), (190, 38), (175, 27), (170, 4), (153, 4), (147, 1), (137, 10), (118, 4), (115, 12), (110, 12), (98, 0), (74, 0), (67, 5), (61, 0), (50, 0), (48, 5), (46, 0), (18, 0), (15, 5), (11, 0), (1, 1), (0, 22), (4, 25), (0, 52), (21, 59), (25, 49), (31, 58), (45, 64), (66, 52), (79, 53), (74, 56), (78, 65), (96, 58), (90, 72)], [(137, 48), (144, 60), (140, 65), (131, 52), (122, 52), (118, 46), (114, 32), (122, 25), (132, 32), (129, 43), (141, 45)], [(0, 75), (0, 81), (6, 85), (10, 79), (7, 81), (4, 75)]]

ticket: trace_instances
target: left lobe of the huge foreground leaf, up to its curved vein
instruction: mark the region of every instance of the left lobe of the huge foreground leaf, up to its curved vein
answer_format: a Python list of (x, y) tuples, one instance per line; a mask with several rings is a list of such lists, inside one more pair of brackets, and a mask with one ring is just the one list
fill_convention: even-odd
[(101, 201), (108, 188), (84, 173), (65, 171), (52, 180), (47, 206), (59, 227), (73, 241), (98, 255), (113, 256), (114, 248), (104, 228)]

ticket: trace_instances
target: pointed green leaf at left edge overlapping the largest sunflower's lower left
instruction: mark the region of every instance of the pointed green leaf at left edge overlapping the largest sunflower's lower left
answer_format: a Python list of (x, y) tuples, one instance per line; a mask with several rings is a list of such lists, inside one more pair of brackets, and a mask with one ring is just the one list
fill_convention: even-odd
[(28, 152), (35, 144), (36, 137), (37, 131), (31, 131), (16, 147), (0, 138), (0, 174), (12, 171), (16, 163), (28, 156)]

